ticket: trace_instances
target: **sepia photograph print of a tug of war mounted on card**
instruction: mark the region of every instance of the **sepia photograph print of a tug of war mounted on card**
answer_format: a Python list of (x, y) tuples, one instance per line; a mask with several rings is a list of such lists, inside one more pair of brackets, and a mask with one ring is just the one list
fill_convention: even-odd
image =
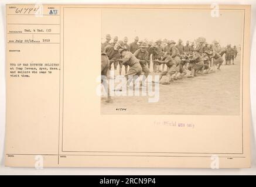
[(244, 12), (101, 11), (101, 114), (240, 115)]

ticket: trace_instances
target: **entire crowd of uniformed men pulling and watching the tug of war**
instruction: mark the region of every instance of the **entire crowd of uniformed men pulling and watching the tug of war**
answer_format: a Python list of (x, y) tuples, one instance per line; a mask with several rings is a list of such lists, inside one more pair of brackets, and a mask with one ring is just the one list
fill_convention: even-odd
[(152, 65), (153, 72), (159, 73), (160, 79), (163, 75), (168, 77), (162, 84), (170, 84), (176, 79), (182, 79), (188, 72), (187, 77), (193, 78), (197, 74), (220, 70), (224, 54), (224, 65), (234, 64), (238, 53), (236, 46), (231, 47), (231, 44), (228, 44), (227, 47), (221, 48), (218, 41), (208, 44), (203, 37), (199, 37), (196, 44), (189, 41), (186, 41), (186, 45), (182, 43), (181, 39), (178, 43), (173, 40), (163, 42), (161, 39), (148, 42), (139, 40), (136, 36), (134, 41), (128, 44), (127, 37), (118, 40), (117, 36), (112, 39), (111, 35), (107, 34), (105, 42), (101, 43), (101, 74), (107, 75), (114, 64), (115, 75), (118, 74), (118, 65), (121, 75), (124, 66), (128, 86), (132, 81), (131, 76), (138, 78), (141, 74), (144, 75), (141, 82), (144, 85)]

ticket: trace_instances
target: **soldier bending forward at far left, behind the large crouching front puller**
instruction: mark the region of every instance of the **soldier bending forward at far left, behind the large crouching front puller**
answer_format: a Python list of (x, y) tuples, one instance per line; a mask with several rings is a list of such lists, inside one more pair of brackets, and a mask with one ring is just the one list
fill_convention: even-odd
[[(108, 59), (110, 60), (110, 70), (111, 70), (111, 65), (114, 63), (114, 71), (117, 71), (117, 65), (118, 65), (118, 58), (120, 58), (120, 53), (119, 49), (124, 46), (124, 43), (120, 40), (118, 41), (115, 46), (107, 46), (105, 47), (105, 52), (108, 56)], [(114, 72), (115, 75), (117, 74)]]

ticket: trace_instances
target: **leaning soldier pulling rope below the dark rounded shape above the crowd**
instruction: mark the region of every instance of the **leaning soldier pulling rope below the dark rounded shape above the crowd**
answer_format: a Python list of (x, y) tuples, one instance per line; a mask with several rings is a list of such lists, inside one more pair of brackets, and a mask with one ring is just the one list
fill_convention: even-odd
[(193, 78), (196, 76), (197, 71), (202, 70), (204, 67), (203, 58), (200, 55), (200, 51), (198, 49), (194, 50), (194, 57), (190, 60), (191, 64), (191, 72), (190, 75), (187, 76), (189, 78)]

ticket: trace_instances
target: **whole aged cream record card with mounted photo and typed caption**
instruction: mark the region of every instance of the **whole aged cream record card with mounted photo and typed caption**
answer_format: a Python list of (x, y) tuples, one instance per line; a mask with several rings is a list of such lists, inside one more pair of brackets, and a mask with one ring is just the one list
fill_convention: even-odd
[(250, 167), (250, 15), (6, 5), (5, 165)]

